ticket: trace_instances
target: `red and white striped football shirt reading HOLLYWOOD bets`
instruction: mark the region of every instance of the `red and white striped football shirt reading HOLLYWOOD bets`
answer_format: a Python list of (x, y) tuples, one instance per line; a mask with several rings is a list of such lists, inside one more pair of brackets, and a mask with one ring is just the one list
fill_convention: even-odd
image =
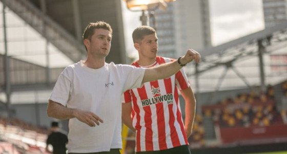
[[(171, 61), (174, 59), (157, 56), (156, 63), (149, 67)], [(132, 65), (141, 67), (137, 62)], [(189, 144), (177, 90), (189, 86), (187, 76), (181, 69), (168, 79), (147, 82), (141, 88), (127, 90), (124, 93), (124, 102), (132, 101), (136, 152), (164, 150)]]

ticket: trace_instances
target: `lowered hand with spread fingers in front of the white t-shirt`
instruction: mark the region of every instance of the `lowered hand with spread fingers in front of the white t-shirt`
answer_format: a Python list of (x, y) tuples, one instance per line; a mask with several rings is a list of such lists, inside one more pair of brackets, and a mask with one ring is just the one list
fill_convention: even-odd
[(104, 122), (95, 113), (90, 112), (90, 111), (77, 110), (75, 117), (79, 121), (86, 123), (87, 125), (91, 127), (95, 127), (96, 125), (99, 125), (99, 122), (101, 123)]

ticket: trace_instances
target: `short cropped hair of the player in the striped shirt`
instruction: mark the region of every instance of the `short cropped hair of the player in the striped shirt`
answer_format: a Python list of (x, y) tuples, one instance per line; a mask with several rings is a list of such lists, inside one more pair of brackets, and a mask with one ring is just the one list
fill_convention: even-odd
[(155, 29), (150, 26), (139, 26), (133, 31), (133, 42), (139, 43), (146, 35), (156, 33)]

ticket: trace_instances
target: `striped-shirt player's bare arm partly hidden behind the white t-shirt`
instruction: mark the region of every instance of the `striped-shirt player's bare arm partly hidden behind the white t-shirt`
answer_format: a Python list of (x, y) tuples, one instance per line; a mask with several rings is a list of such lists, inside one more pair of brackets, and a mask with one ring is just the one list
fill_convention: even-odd
[(133, 132), (135, 132), (135, 128), (133, 127), (132, 122), (132, 103), (122, 103), (122, 112), (121, 112), (121, 120), (122, 122), (127, 125)]

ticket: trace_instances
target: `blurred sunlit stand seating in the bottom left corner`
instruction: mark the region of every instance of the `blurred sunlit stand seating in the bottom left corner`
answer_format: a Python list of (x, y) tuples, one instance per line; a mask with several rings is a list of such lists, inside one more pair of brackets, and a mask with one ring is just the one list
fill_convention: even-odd
[(18, 119), (0, 117), (0, 153), (48, 153), (45, 150), (48, 132)]

